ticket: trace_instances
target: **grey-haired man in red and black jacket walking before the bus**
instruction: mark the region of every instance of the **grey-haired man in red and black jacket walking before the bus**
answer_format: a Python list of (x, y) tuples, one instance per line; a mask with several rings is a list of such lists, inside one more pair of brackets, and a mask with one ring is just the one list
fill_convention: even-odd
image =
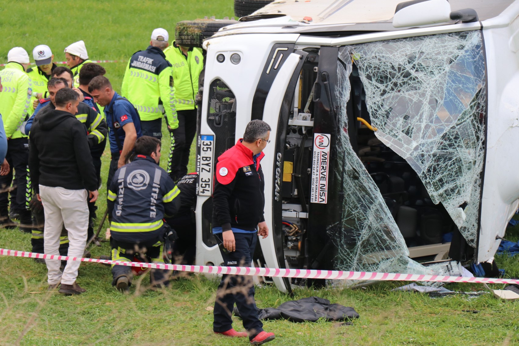
[[(266, 238), (268, 227), (263, 217), (265, 181), (260, 161), (269, 141), (270, 126), (253, 120), (239, 139), (218, 157), (216, 183), (213, 193), (213, 234), (220, 243), (225, 266), (249, 267), (256, 247), (257, 235)], [(233, 329), (231, 313), (234, 303), (241, 314), (247, 332)], [(254, 302), (251, 276), (226, 275), (216, 292), (213, 331), (230, 337), (249, 336), (252, 344), (274, 339), (274, 333), (263, 330)]]

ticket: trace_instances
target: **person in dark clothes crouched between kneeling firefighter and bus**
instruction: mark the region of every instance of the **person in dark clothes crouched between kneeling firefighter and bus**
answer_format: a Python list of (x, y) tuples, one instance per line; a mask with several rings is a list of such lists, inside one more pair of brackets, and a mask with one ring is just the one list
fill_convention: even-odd
[(184, 265), (195, 264), (196, 256), (196, 184), (198, 174), (190, 173), (183, 176), (176, 183), (180, 189), (180, 209), (173, 218), (167, 218), (166, 222), (176, 231), (178, 238), (173, 244), (172, 256), (179, 258), (175, 263)]

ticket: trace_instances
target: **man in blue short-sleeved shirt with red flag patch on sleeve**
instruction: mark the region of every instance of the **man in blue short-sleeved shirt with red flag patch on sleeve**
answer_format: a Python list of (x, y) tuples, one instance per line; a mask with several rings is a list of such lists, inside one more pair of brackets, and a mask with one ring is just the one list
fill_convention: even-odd
[(141, 120), (139, 113), (133, 105), (122, 98), (112, 89), (112, 84), (105, 76), (92, 78), (88, 84), (88, 92), (94, 102), (104, 107), (106, 123), (108, 125), (108, 138), (110, 139), (110, 152), (112, 161), (108, 169), (109, 185), (114, 172), (124, 166), (133, 150), (135, 140), (142, 136)]

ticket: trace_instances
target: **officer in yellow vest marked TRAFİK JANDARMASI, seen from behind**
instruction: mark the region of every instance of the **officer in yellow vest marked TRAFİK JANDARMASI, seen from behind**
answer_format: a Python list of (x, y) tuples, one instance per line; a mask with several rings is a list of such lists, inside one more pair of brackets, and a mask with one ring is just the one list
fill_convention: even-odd
[(132, 55), (128, 61), (121, 94), (139, 111), (143, 136), (162, 138), (162, 103), (168, 126), (178, 127), (175, 111), (175, 92), (171, 63), (163, 50), (168, 47), (168, 32), (158, 28), (152, 33), (146, 50)]

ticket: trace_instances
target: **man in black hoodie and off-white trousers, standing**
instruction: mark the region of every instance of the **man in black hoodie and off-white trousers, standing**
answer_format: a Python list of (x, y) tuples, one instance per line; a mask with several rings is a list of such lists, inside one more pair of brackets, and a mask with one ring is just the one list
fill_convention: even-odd
[[(54, 103), (56, 109), (49, 107), (38, 114), (31, 128), (29, 169), (36, 196), (45, 211), (45, 254), (59, 255), (64, 224), (69, 231), (68, 256), (81, 257), (87, 241), (87, 190), (90, 202), (94, 202), (98, 182), (85, 128), (74, 116), (78, 94), (70, 88), (60, 89)], [(67, 261), (63, 273), (59, 260), (45, 262), (49, 287), (61, 283), (59, 291), (67, 295), (86, 291), (76, 284), (80, 262)]]

